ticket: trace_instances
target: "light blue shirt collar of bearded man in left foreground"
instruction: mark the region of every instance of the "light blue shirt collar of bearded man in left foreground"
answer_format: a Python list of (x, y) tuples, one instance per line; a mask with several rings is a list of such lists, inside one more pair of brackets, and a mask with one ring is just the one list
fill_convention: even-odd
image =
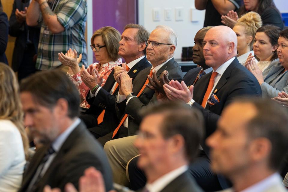
[(61, 135), (56, 138), (55, 141), (53, 141), (52, 147), (55, 152), (59, 152), (67, 137), (80, 124), (80, 122), (81, 120), (77, 118)]

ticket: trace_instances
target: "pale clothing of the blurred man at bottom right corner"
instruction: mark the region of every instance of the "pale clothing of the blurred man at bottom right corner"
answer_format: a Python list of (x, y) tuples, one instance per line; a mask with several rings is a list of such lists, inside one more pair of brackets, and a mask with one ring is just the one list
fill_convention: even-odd
[[(252, 186), (239, 192), (285, 192), (287, 191), (284, 185), (281, 184), (281, 176), (279, 173), (274, 173), (271, 176), (253, 184)], [(232, 188), (223, 190), (223, 192), (233, 192)]]

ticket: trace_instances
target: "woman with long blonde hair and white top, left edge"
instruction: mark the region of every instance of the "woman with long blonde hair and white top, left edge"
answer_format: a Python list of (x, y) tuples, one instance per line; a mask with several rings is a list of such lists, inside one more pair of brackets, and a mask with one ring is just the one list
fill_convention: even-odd
[(0, 63), (0, 191), (18, 191), (28, 158), (19, 85), (13, 70)]

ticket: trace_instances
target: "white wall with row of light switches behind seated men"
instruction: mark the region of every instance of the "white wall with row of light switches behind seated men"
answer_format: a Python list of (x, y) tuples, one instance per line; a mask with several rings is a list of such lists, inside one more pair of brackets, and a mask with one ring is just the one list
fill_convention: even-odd
[[(287, 1), (287, 0), (285, 0)], [(175, 7), (183, 7), (183, 21), (175, 20)], [(160, 21), (153, 21), (153, 8), (159, 8)], [(164, 20), (164, 9), (171, 8), (171, 21)], [(190, 21), (190, 9), (194, 8), (194, 0), (139, 0), (138, 4), (138, 22), (149, 32), (152, 32), (158, 25), (170, 26), (178, 35), (178, 44), (174, 58), (181, 58), (182, 47), (193, 46), (196, 32), (203, 27), (205, 11), (196, 11), (196, 20)]]

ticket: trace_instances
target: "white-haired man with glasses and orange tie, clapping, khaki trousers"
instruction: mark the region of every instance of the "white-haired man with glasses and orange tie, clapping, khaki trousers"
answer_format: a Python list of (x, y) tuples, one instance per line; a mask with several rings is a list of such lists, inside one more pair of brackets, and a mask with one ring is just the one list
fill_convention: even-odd
[[(132, 154), (132, 157), (134, 157), (139, 152), (134, 148), (122, 148), (121, 143), (129, 142), (131, 137), (127, 136), (136, 135), (136, 132), (139, 130), (139, 124), (142, 120), (139, 115), (140, 109), (157, 102), (156, 96), (158, 94), (145, 86), (149, 83), (147, 77), (154, 76), (153, 79), (159, 79), (160, 74), (164, 70), (169, 73), (169, 79), (182, 79), (183, 74), (179, 64), (173, 58), (177, 46), (177, 36), (173, 29), (167, 26), (157, 26), (150, 34), (146, 45), (146, 57), (151, 62), (152, 67), (142, 70), (136, 76), (133, 83), (124, 67), (115, 68), (114, 77), (120, 85), (119, 93), (116, 96), (116, 112), (120, 118), (119, 125), (114, 128), (113, 132), (98, 139), (101, 143), (117, 139), (110, 141), (112, 143), (115, 141), (115, 144), (119, 147), (119, 149), (117, 148), (119, 150), (117, 154), (110, 153), (114, 157), (110, 158), (110, 165), (113, 169), (114, 182), (123, 185), (129, 185), (125, 174), (125, 166), (131, 159), (128, 156), (131, 157), (130, 154)], [(107, 150), (109, 150), (109, 146), (115, 145), (108, 145)], [(127, 154), (129, 155), (127, 156)], [(118, 157), (116, 158), (115, 155)], [(122, 167), (119, 163), (114, 163), (112, 159), (121, 159), (121, 165), (125, 166)]]

